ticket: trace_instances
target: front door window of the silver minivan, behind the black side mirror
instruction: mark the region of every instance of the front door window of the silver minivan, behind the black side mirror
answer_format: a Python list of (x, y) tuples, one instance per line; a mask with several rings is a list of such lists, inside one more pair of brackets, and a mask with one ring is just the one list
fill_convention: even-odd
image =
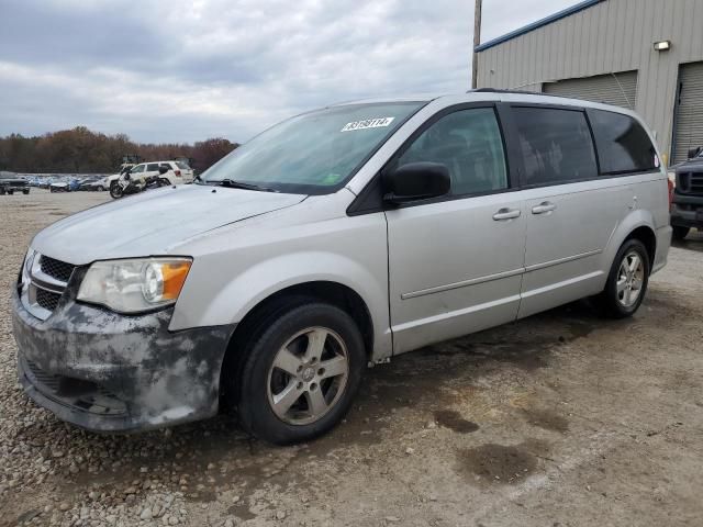
[(432, 124), (400, 156), (398, 166), (420, 161), (445, 165), (454, 195), (507, 188), (503, 141), (492, 108), (460, 110)]

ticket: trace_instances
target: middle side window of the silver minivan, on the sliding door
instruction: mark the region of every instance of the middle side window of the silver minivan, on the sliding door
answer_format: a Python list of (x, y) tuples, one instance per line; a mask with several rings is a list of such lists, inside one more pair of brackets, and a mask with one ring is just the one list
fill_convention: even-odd
[(578, 110), (513, 108), (526, 184), (595, 178), (598, 167), (585, 114)]

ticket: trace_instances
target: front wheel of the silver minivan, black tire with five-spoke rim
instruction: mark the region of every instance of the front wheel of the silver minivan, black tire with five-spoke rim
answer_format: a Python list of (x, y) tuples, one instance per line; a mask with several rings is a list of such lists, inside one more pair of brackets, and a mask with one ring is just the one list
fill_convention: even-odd
[(242, 427), (266, 441), (290, 445), (339, 423), (366, 365), (354, 319), (334, 305), (310, 299), (270, 310), (252, 329), (242, 349), (239, 374), (223, 372), (231, 375), (232, 389), (225, 395), (237, 406)]

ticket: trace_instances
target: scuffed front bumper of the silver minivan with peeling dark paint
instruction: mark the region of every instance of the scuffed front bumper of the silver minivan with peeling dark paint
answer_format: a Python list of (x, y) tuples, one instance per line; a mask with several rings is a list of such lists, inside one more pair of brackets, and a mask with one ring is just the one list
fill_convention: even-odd
[(63, 300), (41, 321), (15, 289), (20, 383), (58, 418), (94, 431), (210, 417), (217, 413), (220, 370), (234, 326), (169, 332), (171, 313), (125, 316)]

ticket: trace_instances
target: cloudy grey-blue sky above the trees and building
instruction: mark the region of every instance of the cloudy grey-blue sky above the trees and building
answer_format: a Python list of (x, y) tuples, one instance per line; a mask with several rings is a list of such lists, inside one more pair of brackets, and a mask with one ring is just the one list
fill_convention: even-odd
[[(483, 0), (481, 42), (577, 0)], [(470, 87), (473, 0), (0, 0), (0, 136), (245, 142), (339, 101)]]

